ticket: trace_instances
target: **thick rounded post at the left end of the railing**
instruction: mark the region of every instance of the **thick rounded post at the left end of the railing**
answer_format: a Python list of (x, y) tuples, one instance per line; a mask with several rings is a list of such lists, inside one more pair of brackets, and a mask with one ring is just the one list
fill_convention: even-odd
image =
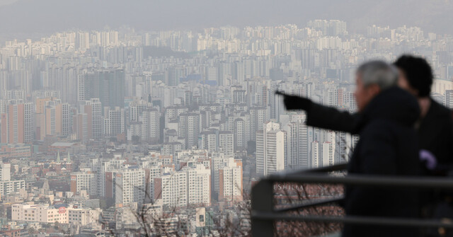
[(269, 180), (261, 180), (252, 187), (252, 236), (255, 237), (271, 237), (274, 236), (275, 228), (272, 219), (256, 219), (253, 214), (256, 212), (273, 212), (274, 200), (273, 197), (273, 182)]

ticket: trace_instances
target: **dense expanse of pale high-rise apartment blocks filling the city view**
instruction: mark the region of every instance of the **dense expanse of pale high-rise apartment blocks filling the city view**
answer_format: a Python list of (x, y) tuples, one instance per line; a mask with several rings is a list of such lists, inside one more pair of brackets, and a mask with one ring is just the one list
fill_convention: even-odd
[[(308, 127), (305, 112), (285, 110), (275, 91), (356, 112), (357, 66), (405, 53), (430, 62), (431, 96), (453, 108), (453, 37), (413, 25), (355, 33), (346, 21), (312, 19), (6, 40), (0, 218), (24, 235), (26, 226), (66, 236), (163, 226), (209, 236), (230, 225), (247, 236), (257, 180), (345, 163), (358, 140)], [(297, 197), (295, 190), (280, 191)], [(314, 190), (311, 197), (333, 197)]]

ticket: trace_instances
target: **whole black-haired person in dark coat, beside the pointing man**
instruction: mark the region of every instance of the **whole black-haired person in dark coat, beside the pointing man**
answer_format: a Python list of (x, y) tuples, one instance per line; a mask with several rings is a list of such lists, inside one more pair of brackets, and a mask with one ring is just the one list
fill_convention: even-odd
[[(394, 63), (399, 69), (398, 85), (418, 97), (420, 159), (425, 175), (448, 175), (453, 161), (453, 120), (451, 111), (430, 98), (432, 69), (425, 59), (403, 55)], [(430, 158), (432, 157), (432, 158)], [(432, 162), (434, 161), (434, 162)], [(421, 192), (423, 217), (452, 219), (452, 192)], [(442, 233), (442, 234), (441, 234)], [(451, 229), (428, 229), (423, 236), (453, 236)]]

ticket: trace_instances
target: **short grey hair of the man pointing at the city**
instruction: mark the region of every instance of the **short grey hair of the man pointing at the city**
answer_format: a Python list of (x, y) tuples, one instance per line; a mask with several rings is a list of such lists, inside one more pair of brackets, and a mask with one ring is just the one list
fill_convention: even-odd
[(398, 83), (398, 69), (384, 61), (365, 62), (357, 69), (357, 74), (360, 74), (365, 87), (377, 84), (384, 90)]

